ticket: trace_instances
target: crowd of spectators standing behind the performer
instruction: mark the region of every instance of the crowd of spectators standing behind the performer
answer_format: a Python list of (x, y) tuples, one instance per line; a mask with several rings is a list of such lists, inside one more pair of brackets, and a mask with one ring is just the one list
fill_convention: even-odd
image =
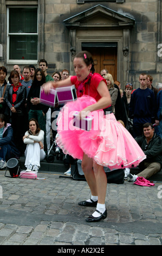
[[(4, 66), (0, 67), (0, 124), (3, 123), (3, 126), (0, 126), (0, 147), (2, 130), (5, 126), (12, 127), (10, 129), (12, 130), (11, 141), (17, 149), (17, 158), (25, 153), (27, 143), (23, 140), (24, 135), (28, 135), (30, 119), (35, 119), (40, 130), (44, 132), (43, 150), (46, 155), (50, 149), (51, 137), (52, 140), (55, 139), (56, 131), (51, 129), (53, 121), (51, 116), (55, 110), (60, 109), (60, 106), (59, 109), (54, 109), (42, 105), (40, 89), (43, 83), (64, 80), (70, 74), (64, 69), (61, 72), (54, 71), (50, 76), (47, 70), (48, 63), (45, 59), (38, 62), (37, 69), (34, 65), (24, 66), (22, 74), (20, 66), (14, 65), (7, 81), (7, 69)], [(152, 124), (154, 134), (162, 138), (162, 84), (159, 83), (157, 87), (153, 86), (153, 77), (141, 73), (139, 88), (135, 89), (129, 81), (123, 86), (119, 81), (114, 82), (113, 76), (106, 69), (101, 70), (100, 74), (107, 82), (116, 120), (122, 121), (134, 138), (144, 136), (143, 129), (146, 123)], [(25, 138), (25, 141), (29, 140), (27, 139)], [(1, 149), (0, 153), (2, 153)], [(1, 155), (3, 154), (0, 154), (0, 168), (4, 168), (5, 157)], [(70, 175), (70, 172), (67, 175)]]

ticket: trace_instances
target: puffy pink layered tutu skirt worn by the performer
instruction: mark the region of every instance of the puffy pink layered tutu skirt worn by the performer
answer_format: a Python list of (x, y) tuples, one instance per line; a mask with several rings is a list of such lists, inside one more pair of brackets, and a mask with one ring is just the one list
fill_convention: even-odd
[(116, 121), (113, 113), (105, 115), (100, 109), (88, 114), (92, 117), (90, 131), (73, 126), (74, 112), (94, 103), (93, 97), (84, 95), (62, 108), (57, 118), (57, 144), (63, 153), (81, 160), (86, 154), (111, 170), (138, 166), (146, 156), (131, 134)]

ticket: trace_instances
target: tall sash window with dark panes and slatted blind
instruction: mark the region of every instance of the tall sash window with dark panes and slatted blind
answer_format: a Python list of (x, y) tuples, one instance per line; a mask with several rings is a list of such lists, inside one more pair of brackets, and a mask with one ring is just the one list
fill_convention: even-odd
[(37, 7), (8, 8), (8, 63), (37, 63)]

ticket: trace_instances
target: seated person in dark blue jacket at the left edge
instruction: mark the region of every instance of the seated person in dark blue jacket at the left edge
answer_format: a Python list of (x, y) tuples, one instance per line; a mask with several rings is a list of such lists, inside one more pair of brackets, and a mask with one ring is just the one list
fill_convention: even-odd
[(20, 152), (14, 143), (11, 124), (7, 123), (4, 114), (0, 114), (0, 168), (5, 168), (12, 157), (19, 158)]

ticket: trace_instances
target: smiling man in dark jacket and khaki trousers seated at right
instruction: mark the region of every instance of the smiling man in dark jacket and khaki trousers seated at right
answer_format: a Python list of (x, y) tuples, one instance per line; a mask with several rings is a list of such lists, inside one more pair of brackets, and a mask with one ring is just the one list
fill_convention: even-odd
[(154, 132), (153, 125), (143, 125), (144, 135), (135, 138), (140, 148), (144, 151), (146, 159), (139, 163), (142, 172), (137, 175), (128, 174), (127, 181), (135, 181), (138, 177), (150, 178), (158, 173), (162, 167), (162, 140)]

